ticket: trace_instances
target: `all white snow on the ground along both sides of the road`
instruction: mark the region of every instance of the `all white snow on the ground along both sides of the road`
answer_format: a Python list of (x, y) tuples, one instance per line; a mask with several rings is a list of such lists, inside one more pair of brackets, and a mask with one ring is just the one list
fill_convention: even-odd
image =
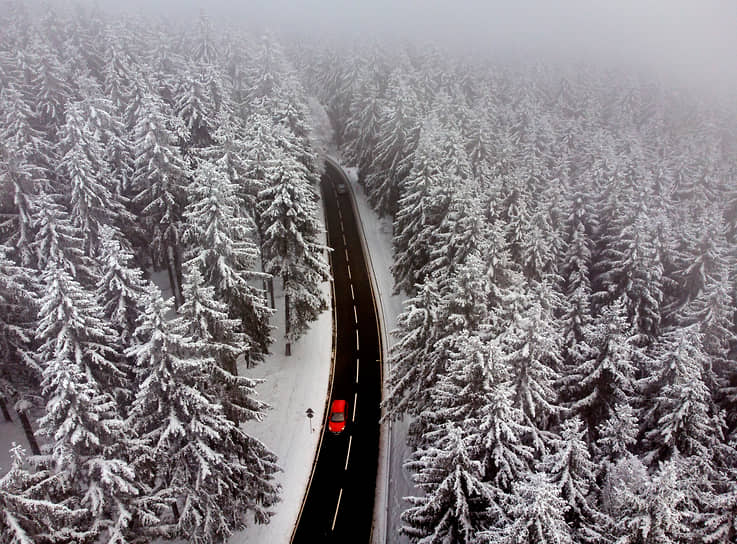
[[(383, 314), (384, 340), (387, 342), (390, 339), (387, 338), (386, 332), (395, 327), (396, 318), (402, 311), (403, 300), (401, 296), (392, 295), (391, 222), (379, 219), (371, 210), (363, 189), (356, 183), (355, 169), (347, 169), (347, 172), (374, 268), (377, 296)], [(161, 288), (164, 297), (171, 296), (169, 278), (165, 270), (153, 272), (151, 279)], [(257, 388), (257, 392), (259, 398), (267, 402), (271, 409), (262, 422), (249, 423), (247, 431), (262, 440), (279, 457), (279, 465), (283, 472), (277, 479), (282, 486), (282, 501), (275, 507), (274, 516), (269, 524), (251, 524), (246, 530), (235, 533), (230, 539), (230, 544), (290, 541), (312, 473), (320, 427), (324, 423), (327, 408), (332, 314), (330, 311), (323, 312), (309, 331), (298, 342), (292, 344), (292, 355), (285, 356), (284, 297), (278, 289), (278, 284), (278, 281), (275, 282), (277, 311), (272, 317), (275, 342), (271, 347), (271, 353), (257, 367), (239, 368), (239, 372), (265, 380), (265, 383)], [(324, 283), (322, 288), (329, 299), (329, 284)], [(385, 359), (386, 348), (385, 345)], [(305, 414), (307, 408), (312, 408), (315, 412), (312, 433)], [(404, 459), (409, 456), (404, 438), (407, 426), (406, 422), (382, 426), (382, 431), (391, 427), (391, 437), (387, 443), (389, 437), (382, 436), (374, 531), (376, 542), (408, 542), (406, 537), (398, 534), (399, 515), (404, 508), (402, 497), (410, 495), (412, 489), (409, 475), (402, 469)], [(9, 449), (13, 442), (28, 449), (19, 423), (0, 423), (0, 474), (5, 473), (10, 467)], [(389, 447), (393, 449), (387, 458), (385, 452)]]

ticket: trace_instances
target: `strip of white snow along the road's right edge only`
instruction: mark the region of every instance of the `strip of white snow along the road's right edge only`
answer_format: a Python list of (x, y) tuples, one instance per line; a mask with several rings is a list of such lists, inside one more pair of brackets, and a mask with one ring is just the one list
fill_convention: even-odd
[[(396, 328), (397, 316), (403, 310), (404, 297), (393, 294), (394, 278), (391, 274), (393, 263), (392, 253), (392, 224), (388, 218), (379, 218), (371, 209), (366, 193), (358, 184), (356, 168), (345, 168), (350, 178), (351, 188), (355, 197), (358, 214), (363, 228), (364, 238), (369, 251), (369, 261), (373, 267), (376, 279), (376, 295), (379, 298), (379, 308), (382, 313), (384, 327), (384, 361), (392, 344), (389, 331)], [(388, 369), (384, 369), (384, 379)], [(386, 389), (384, 389), (386, 394)], [(387, 436), (386, 430), (390, 432)], [(375, 511), (375, 542), (391, 544), (405, 544), (408, 537), (399, 534), (402, 510), (407, 506), (402, 497), (416, 494), (411, 476), (403, 468), (404, 460), (408, 459), (411, 450), (406, 445), (409, 421), (407, 419), (385, 423), (382, 425), (382, 444), (379, 460), (379, 476), (377, 482), (376, 511)], [(386, 452), (389, 452), (387, 456)]]

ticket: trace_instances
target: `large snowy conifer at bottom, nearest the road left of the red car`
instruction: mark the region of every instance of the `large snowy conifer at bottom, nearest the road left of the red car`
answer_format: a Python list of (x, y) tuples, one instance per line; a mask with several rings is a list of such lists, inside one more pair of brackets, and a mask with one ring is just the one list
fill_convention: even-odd
[(162, 536), (195, 543), (221, 542), (259, 523), (278, 500), (274, 455), (225, 415), (208, 393), (216, 364), (198, 353), (191, 337), (174, 332), (165, 303), (154, 290), (128, 354), (136, 359), (138, 389), (128, 424), (142, 437), (135, 468), (151, 494), (169, 505)]

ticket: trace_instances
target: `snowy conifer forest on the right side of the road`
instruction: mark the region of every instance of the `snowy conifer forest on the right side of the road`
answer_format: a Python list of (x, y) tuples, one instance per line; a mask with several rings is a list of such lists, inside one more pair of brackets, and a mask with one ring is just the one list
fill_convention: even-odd
[(410, 541), (734, 542), (733, 104), (433, 47), (301, 58), (393, 221)]

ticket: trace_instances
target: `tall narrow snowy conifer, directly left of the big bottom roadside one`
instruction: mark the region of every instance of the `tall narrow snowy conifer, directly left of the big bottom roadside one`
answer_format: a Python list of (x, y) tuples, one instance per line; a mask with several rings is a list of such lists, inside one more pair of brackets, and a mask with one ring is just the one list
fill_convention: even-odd
[(46, 400), (39, 427), (50, 439), (48, 460), (75, 490), (87, 530), (107, 542), (127, 542), (140, 487), (126, 460), (128, 429), (108, 393), (124, 379), (110, 347), (114, 340), (91, 295), (63, 268), (51, 263), (44, 282), (37, 357)]

